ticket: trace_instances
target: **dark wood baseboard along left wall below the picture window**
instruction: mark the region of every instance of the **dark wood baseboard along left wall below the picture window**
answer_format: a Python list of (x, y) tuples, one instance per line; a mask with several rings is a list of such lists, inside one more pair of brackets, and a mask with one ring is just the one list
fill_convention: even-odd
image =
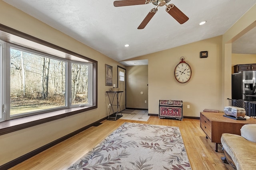
[(88, 129), (89, 127), (92, 127), (94, 125), (98, 125), (100, 122), (102, 122), (103, 120), (105, 120), (107, 118), (108, 117), (104, 117), (104, 118), (102, 118), (102, 119), (100, 119), (100, 120), (98, 120), (98, 121), (96, 121), (94, 123), (91, 123), (90, 125), (82, 127), (81, 129), (78, 129), (77, 131), (74, 131), (74, 132), (72, 132), (72, 133), (70, 133), (70, 134), (68, 134), (68, 135), (66, 135), (64, 137), (61, 137), (61, 138), (59, 138), (59, 139), (57, 139), (57, 140), (55, 140), (55, 141), (53, 141), (51, 143), (48, 143), (48, 144), (46, 144), (46, 145), (44, 145), (44, 146), (42, 146), (42, 147), (40, 147), (40, 148), (38, 148), (36, 150), (33, 150), (33, 151), (31, 151), (31, 152), (29, 152), (27, 154), (24, 154), (24, 155), (22, 155), (22, 156), (20, 156), (20, 157), (18, 157), (16, 159), (10, 161), (10, 162), (7, 162), (6, 164), (3, 164), (3, 165), (0, 166), (0, 170), (7, 170), (9, 168), (12, 168), (13, 166), (15, 166), (15, 165), (17, 165), (17, 164), (27, 160), (28, 158), (31, 158), (32, 156), (35, 156), (36, 154), (39, 154), (40, 152), (42, 152), (42, 151), (44, 151), (46, 149), (49, 149), (50, 147), (53, 147), (54, 145), (57, 145), (58, 143), (61, 143), (62, 141), (65, 141), (66, 139), (68, 139), (68, 138), (70, 138), (70, 137), (72, 137), (72, 136), (74, 136), (74, 135), (76, 135), (76, 134), (78, 134), (78, 133)]

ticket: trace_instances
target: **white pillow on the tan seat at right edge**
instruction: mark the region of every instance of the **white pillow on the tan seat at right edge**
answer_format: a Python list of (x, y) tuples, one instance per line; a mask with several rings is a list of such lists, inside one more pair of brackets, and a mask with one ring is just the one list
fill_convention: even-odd
[(256, 125), (243, 125), (240, 131), (242, 137), (256, 143)]

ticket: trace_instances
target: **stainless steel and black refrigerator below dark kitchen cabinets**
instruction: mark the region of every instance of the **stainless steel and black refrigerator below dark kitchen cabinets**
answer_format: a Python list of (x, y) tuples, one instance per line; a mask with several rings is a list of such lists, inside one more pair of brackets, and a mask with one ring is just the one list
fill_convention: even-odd
[(256, 71), (232, 74), (232, 99), (256, 101)]

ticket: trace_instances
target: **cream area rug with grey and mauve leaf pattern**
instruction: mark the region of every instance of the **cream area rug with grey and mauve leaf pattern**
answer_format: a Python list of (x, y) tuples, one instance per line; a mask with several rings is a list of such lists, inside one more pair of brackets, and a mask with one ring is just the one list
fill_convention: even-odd
[(179, 127), (124, 123), (69, 170), (191, 170)]

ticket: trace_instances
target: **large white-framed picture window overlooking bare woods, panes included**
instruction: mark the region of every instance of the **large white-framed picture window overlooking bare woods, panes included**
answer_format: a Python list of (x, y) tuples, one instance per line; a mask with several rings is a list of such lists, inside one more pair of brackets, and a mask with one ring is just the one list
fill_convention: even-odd
[(93, 64), (87, 60), (68, 60), (3, 41), (0, 54), (0, 121), (93, 106)]

